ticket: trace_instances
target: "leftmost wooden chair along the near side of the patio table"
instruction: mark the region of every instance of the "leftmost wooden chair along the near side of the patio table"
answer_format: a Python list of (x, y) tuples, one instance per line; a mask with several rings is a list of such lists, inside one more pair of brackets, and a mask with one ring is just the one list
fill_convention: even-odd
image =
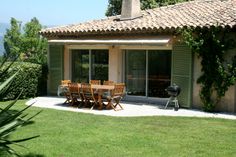
[(68, 83), (71, 105), (73, 106), (74, 103), (79, 102), (80, 99), (80, 88), (78, 83)]

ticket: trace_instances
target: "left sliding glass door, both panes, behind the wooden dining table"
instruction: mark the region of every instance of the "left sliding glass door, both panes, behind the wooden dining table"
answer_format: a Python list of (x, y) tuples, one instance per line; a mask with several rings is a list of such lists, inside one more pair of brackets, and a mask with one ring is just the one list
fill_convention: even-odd
[(108, 80), (108, 50), (71, 50), (71, 52), (72, 81)]

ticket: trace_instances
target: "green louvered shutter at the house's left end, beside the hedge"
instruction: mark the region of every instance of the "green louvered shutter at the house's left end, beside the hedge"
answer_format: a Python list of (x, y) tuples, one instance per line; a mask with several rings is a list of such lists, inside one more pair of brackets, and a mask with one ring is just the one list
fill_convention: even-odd
[(49, 45), (49, 94), (57, 94), (58, 85), (63, 79), (63, 45)]

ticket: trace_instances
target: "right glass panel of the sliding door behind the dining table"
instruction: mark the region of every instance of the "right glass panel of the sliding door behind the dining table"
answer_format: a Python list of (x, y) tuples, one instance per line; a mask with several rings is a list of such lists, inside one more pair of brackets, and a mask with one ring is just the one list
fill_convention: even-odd
[(108, 80), (108, 50), (91, 50), (91, 79)]

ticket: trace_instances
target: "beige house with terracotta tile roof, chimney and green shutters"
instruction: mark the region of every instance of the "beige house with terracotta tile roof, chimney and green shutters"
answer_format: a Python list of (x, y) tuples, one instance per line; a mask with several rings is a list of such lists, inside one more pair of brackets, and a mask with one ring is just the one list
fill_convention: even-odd
[[(121, 15), (43, 29), (49, 40), (48, 92), (56, 94), (62, 79), (113, 80), (126, 83), (126, 99), (155, 102), (175, 83), (182, 89), (180, 105), (200, 108), (200, 59), (175, 33), (218, 26), (236, 37), (236, 0), (195, 0), (145, 11), (139, 0), (123, 0)], [(235, 86), (217, 108), (236, 112)]]

